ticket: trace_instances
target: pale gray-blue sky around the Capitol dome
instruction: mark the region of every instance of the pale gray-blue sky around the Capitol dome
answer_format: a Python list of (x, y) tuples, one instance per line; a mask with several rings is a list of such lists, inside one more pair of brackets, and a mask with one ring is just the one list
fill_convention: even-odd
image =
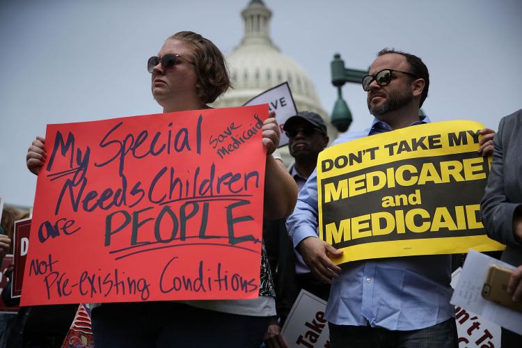
[[(33, 204), (27, 148), (49, 123), (159, 113), (145, 63), (169, 35), (196, 31), (230, 54), (249, 0), (0, 1), (0, 196)], [(522, 108), (522, 1), (264, 0), (271, 37), (315, 81), (328, 113), (336, 98), (330, 62), (367, 69), (383, 47), (420, 56), (430, 73), (422, 107), (432, 120), (497, 129)], [(372, 118), (360, 85), (342, 94), (354, 117)]]

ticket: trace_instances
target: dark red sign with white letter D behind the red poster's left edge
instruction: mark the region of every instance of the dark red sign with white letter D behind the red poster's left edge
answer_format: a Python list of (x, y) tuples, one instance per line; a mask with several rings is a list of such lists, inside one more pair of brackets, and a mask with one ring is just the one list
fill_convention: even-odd
[(15, 255), (15, 269), (13, 271), (13, 284), (11, 285), (11, 297), (22, 295), (24, 283), (24, 269), (29, 250), (29, 233), (31, 232), (31, 218), (15, 221), (13, 234), (13, 255)]

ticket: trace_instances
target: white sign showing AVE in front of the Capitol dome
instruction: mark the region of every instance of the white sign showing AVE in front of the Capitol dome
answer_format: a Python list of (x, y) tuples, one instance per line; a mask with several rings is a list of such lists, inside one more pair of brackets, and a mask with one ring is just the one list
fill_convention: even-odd
[(281, 139), (279, 141), (279, 147), (288, 144), (288, 137), (283, 132), (283, 125), (285, 125), (288, 118), (294, 116), (297, 113), (297, 108), (294, 103), (294, 97), (290, 91), (288, 82), (283, 82), (278, 86), (265, 90), (260, 95), (253, 97), (251, 100), (245, 103), (246, 105), (259, 105), (268, 104), (270, 111), (276, 111), (276, 120), (278, 122)]

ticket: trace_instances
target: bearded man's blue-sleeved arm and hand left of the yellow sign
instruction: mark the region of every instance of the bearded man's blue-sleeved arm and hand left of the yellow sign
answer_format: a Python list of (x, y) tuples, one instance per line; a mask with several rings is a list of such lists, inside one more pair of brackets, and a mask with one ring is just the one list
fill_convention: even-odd
[(303, 255), (310, 271), (324, 283), (331, 283), (341, 269), (329, 255), (340, 256), (342, 251), (317, 238), (317, 199), (317, 173), (314, 170), (299, 192), (294, 213), (287, 219), (286, 226), (294, 248)]

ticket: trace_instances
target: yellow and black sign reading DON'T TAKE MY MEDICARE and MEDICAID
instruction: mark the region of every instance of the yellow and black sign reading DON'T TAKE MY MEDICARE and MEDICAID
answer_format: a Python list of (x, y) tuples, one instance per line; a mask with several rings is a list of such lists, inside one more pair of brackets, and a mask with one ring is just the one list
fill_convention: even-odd
[(489, 159), (477, 122), (416, 125), (335, 145), (319, 154), (319, 236), (369, 258), (503, 250), (487, 237), (480, 200)]

